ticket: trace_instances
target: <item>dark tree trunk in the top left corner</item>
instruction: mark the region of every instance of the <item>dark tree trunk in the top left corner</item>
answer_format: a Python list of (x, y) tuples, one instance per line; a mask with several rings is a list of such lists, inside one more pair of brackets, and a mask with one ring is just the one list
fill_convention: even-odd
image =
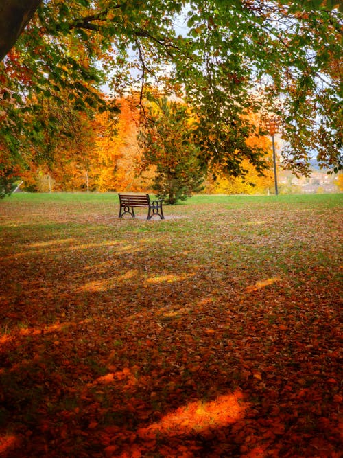
[(0, 1), (0, 61), (10, 51), (42, 0)]

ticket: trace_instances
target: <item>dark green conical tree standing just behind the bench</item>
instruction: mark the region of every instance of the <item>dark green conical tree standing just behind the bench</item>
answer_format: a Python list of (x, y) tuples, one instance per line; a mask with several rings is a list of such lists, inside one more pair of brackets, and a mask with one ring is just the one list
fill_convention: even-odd
[(142, 169), (156, 167), (153, 189), (166, 203), (185, 200), (202, 189), (204, 168), (193, 143), (187, 106), (167, 98), (152, 98), (139, 135)]

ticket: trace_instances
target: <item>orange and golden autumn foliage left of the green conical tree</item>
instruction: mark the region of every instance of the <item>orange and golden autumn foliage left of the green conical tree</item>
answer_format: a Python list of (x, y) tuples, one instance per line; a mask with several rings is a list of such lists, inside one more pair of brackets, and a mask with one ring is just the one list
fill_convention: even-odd
[[(139, 176), (141, 151), (137, 143), (139, 111), (130, 98), (117, 101), (119, 113), (96, 116), (73, 112), (73, 134), (45, 139), (44, 150), (32, 152), (29, 168), (22, 171), (23, 190), (49, 191), (147, 191), (152, 172)], [(48, 113), (47, 113), (48, 115)], [(66, 120), (68, 122), (68, 120)], [(40, 157), (44, 160), (40, 161)], [(48, 179), (49, 176), (49, 183)], [(52, 183), (52, 184), (51, 184)]]

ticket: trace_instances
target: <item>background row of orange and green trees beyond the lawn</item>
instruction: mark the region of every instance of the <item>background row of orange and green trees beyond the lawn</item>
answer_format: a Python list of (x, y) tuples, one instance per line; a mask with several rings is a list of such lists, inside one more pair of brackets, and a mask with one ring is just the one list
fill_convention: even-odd
[[(244, 179), (228, 176), (220, 166), (207, 170), (198, 160), (193, 118), (182, 102), (152, 98), (142, 113), (132, 96), (119, 100), (117, 108), (114, 116), (69, 113), (69, 119), (58, 119), (61, 124), (72, 123), (73, 129), (69, 124), (68, 135), (62, 128), (59, 137), (46, 135), (43, 150), (31, 152), (27, 170), (18, 176), (21, 189), (154, 192), (175, 203), (193, 192), (263, 194), (272, 188), (271, 162), (270, 170), (260, 176), (246, 160)], [(54, 111), (48, 114), (56, 116)], [(247, 141), (270, 150), (268, 137)]]

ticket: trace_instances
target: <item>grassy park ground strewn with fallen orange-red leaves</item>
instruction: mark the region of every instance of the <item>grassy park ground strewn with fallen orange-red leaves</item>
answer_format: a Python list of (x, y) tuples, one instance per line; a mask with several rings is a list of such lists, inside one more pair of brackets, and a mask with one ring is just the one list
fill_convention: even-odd
[(0, 201), (0, 456), (339, 457), (342, 203)]

